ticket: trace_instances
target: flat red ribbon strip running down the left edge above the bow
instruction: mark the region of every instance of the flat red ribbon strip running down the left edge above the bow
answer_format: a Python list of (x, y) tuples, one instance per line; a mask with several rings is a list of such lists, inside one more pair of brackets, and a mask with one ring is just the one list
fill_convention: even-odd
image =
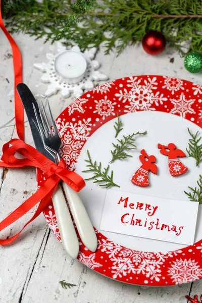
[(21, 140), (24, 140), (24, 108), (21, 101), (21, 98), (17, 92), (16, 85), (22, 82), (22, 59), (20, 50), (16, 41), (12, 38), (10, 33), (7, 31), (1, 12), (1, 0), (0, 0), (0, 28), (3, 30), (5, 35), (7, 36), (13, 52), (13, 67), (14, 67), (14, 75), (15, 75), (15, 118), (16, 118), (16, 130), (18, 136)]

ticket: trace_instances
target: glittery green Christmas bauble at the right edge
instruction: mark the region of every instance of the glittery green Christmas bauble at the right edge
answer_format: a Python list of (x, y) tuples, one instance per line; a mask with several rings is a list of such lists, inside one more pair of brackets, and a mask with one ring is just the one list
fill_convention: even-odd
[(196, 52), (186, 55), (184, 66), (190, 73), (198, 73), (202, 71), (202, 55)]

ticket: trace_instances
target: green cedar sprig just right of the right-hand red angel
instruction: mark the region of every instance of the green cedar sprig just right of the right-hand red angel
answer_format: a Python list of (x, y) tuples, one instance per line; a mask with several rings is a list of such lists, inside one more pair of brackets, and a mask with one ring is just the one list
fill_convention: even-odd
[(201, 137), (198, 138), (198, 131), (194, 134), (192, 134), (188, 129), (189, 135), (191, 136), (191, 139), (189, 139), (189, 149), (186, 148), (186, 151), (189, 155), (189, 157), (192, 157), (196, 160), (196, 166), (199, 165), (200, 162), (202, 162), (202, 143), (199, 144)]

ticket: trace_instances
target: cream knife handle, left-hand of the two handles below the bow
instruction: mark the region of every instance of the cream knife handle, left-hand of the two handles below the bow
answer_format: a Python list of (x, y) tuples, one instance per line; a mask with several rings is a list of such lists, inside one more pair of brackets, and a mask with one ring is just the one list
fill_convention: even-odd
[(79, 241), (60, 184), (58, 184), (57, 189), (52, 196), (52, 200), (63, 247), (68, 255), (75, 259), (79, 253)]

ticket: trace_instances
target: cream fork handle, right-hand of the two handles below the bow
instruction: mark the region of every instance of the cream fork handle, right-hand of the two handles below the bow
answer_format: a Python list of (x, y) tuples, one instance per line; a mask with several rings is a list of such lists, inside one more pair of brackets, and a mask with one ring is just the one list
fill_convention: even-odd
[(76, 191), (65, 182), (62, 182), (62, 186), (81, 240), (90, 251), (94, 252), (97, 248), (97, 237), (85, 207)]

